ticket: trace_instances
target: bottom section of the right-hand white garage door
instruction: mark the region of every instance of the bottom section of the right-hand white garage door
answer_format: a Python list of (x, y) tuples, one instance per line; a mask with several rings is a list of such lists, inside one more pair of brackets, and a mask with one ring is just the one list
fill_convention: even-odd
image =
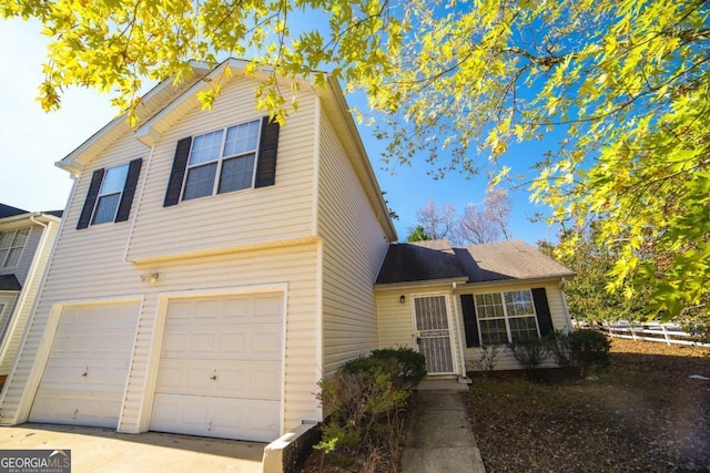
[(155, 394), (150, 429), (191, 435), (270, 442), (278, 435), (280, 402)]

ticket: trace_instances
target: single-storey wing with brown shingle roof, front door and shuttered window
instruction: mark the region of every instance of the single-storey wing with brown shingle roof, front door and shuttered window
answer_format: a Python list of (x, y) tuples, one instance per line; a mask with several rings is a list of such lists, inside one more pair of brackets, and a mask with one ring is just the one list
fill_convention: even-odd
[[(393, 245), (375, 291), (379, 343), (419, 347), (429, 374), (476, 371), (480, 347), (571, 330), (562, 286), (574, 273), (523, 241), (453, 248)], [(496, 370), (519, 370), (500, 351)]]

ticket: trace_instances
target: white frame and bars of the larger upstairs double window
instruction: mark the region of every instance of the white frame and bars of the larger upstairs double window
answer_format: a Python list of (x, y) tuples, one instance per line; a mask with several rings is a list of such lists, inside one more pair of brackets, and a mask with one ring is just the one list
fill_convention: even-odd
[[(254, 123), (254, 122), (257, 122), (257, 124), (258, 124), (258, 131), (257, 131), (257, 134), (256, 134), (256, 144), (254, 146), (254, 150), (253, 151), (246, 151), (246, 152), (243, 152), (243, 153), (232, 154), (232, 155), (229, 155), (229, 156), (224, 156), (223, 154), (224, 154), (224, 146), (226, 144), (227, 130), (236, 127), (236, 126), (241, 126), (241, 125), (247, 125), (247, 124), (251, 124), (251, 123)], [(190, 158), (192, 157), (192, 150), (193, 150), (197, 138), (201, 137), (201, 136), (210, 135), (210, 134), (215, 133), (215, 132), (220, 132), (220, 131), (222, 132), (222, 137), (220, 140), (220, 153), (217, 155), (217, 158), (216, 160), (212, 160), (212, 161), (207, 161), (207, 162), (204, 162), (204, 163), (195, 164), (195, 165), (191, 166), (190, 165)], [(263, 132), (264, 132), (263, 120), (254, 119), (254, 120), (250, 120), (247, 122), (235, 123), (235, 124), (232, 124), (232, 125), (229, 125), (229, 126), (223, 126), (221, 128), (212, 130), (212, 131), (209, 131), (209, 132), (205, 132), (205, 133), (201, 133), (199, 135), (193, 136), (192, 140), (191, 140), (191, 143), (190, 143), (190, 152), (187, 153), (187, 161), (185, 163), (185, 172), (184, 172), (184, 175), (182, 176), (182, 186), (181, 186), (181, 189), (180, 189), (180, 200), (179, 202), (196, 200), (196, 199), (206, 198), (206, 197), (215, 197), (215, 196), (221, 195), (221, 194), (232, 194), (232, 193), (235, 193), (235, 192), (243, 192), (243, 191), (248, 191), (248, 189), (256, 188), (256, 169), (258, 168), (258, 158), (261, 157), (260, 156), (260, 154), (261, 154), (260, 152), (261, 152), (261, 141), (262, 141), (262, 133)], [(240, 158), (240, 157), (245, 157), (245, 156), (248, 156), (250, 154), (254, 155), (254, 165), (252, 166), (251, 185), (248, 187), (244, 187), (244, 188), (241, 188), (241, 189), (227, 191), (227, 192), (220, 193), (219, 192), (220, 191), (220, 179), (222, 177), (222, 168), (223, 168), (224, 162), (229, 161), (229, 160), (236, 160), (236, 158)], [(209, 195), (202, 195), (200, 197), (192, 197), (192, 198), (185, 199), (185, 192), (187, 191), (187, 177), (190, 176), (190, 171), (199, 168), (199, 167), (207, 166), (207, 165), (211, 165), (211, 164), (216, 164), (216, 166), (217, 166), (215, 172), (214, 172), (214, 182), (212, 183), (212, 193), (209, 194)]]

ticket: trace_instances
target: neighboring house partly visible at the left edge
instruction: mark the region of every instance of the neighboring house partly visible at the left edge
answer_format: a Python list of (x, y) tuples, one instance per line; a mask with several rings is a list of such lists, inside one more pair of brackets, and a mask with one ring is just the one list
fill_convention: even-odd
[(0, 388), (37, 299), (61, 215), (0, 204)]

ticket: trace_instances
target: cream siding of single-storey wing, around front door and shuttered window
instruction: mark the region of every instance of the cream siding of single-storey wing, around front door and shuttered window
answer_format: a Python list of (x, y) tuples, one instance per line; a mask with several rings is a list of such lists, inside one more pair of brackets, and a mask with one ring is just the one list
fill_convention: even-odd
[[(454, 327), (452, 330), (455, 331), (455, 341), (458, 343), (458, 340), (463, 342), (464, 347), (464, 358), (466, 360), (466, 370), (474, 371), (474, 361), (478, 359), (480, 356), (479, 348), (466, 348), (466, 333), (464, 332), (464, 315), (460, 307), (460, 295), (462, 294), (488, 294), (488, 292), (498, 292), (498, 291), (510, 291), (510, 290), (521, 290), (521, 289), (532, 289), (545, 287), (547, 292), (547, 304), (550, 308), (550, 316), (552, 318), (552, 326), (555, 329), (568, 329), (567, 315), (565, 313), (565, 308), (562, 304), (562, 295), (559, 290), (558, 281), (548, 281), (548, 282), (538, 282), (538, 284), (514, 284), (514, 285), (505, 285), (505, 286), (485, 286), (479, 288), (459, 288), (455, 296), (450, 297), (450, 307), (449, 310), (454, 310), (452, 312), (453, 317), (458, 318), (457, 320), (453, 320)], [(446, 291), (446, 288), (440, 288), (443, 291)], [(414, 319), (412, 316), (412, 297), (418, 296), (427, 292), (436, 292), (437, 287), (432, 286), (427, 289), (390, 289), (390, 290), (378, 290), (376, 292), (377, 296), (377, 320), (379, 328), (379, 347), (397, 347), (397, 346), (407, 346), (416, 348), (416, 343), (414, 341)], [(405, 296), (405, 304), (399, 302), (399, 297)], [(460, 329), (460, 337), (456, 330)], [(460, 358), (459, 350), (455, 350), (454, 357), (456, 360)], [(544, 367), (554, 367), (555, 364), (551, 362), (546, 362)], [(516, 359), (510, 354), (507, 350), (501, 351), (498, 361), (495, 366), (496, 370), (519, 370), (521, 367), (518, 364)]]

